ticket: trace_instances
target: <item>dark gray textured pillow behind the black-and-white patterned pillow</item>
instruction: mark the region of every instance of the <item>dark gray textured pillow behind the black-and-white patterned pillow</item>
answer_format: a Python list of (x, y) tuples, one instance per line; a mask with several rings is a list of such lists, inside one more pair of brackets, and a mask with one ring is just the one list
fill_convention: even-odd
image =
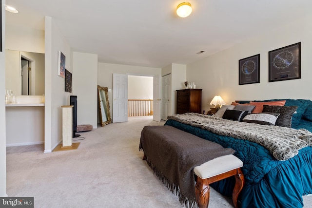
[(263, 105), (263, 112), (280, 113), (275, 122), (275, 126), (292, 128), (292, 114), (297, 108), (298, 106)]

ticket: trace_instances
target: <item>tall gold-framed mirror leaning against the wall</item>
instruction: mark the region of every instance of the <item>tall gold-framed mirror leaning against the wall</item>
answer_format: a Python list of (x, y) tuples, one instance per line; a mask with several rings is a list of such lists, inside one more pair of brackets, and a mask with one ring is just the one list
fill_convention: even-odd
[(102, 126), (112, 123), (109, 110), (108, 88), (98, 85), (98, 114)]

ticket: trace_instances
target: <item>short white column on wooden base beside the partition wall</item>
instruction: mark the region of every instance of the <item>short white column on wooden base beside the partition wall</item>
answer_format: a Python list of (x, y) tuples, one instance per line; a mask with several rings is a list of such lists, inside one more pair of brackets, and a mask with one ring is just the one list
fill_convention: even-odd
[(73, 107), (61, 106), (63, 112), (63, 144), (61, 148), (71, 148), (73, 144)]

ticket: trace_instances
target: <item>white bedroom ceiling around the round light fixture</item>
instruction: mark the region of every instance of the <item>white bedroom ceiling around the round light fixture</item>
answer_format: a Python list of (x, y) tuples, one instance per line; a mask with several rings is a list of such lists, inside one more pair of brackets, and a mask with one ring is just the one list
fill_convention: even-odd
[[(312, 0), (6, 0), (6, 24), (44, 30), (52, 17), (74, 51), (98, 61), (161, 68), (188, 64), (312, 12)], [(309, 14), (309, 15), (310, 15)], [(199, 51), (205, 53), (197, 55)]]

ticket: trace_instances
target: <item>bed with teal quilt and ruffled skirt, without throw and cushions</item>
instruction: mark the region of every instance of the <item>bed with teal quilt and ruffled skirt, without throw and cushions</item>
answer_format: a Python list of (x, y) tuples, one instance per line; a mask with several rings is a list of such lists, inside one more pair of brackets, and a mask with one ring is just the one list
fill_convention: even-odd
[[(292, 128), (289, 129), (305, 129), (309, 133), (312, 132), (312, 101), (280, 100), (286, 100), (284, 106), (297, 106), (295, 113), (291, 116)], [(264, 100), (264, 102), (269, 101), (279, 100)], [(248, 102), (240, 102), (240, 104), (242, 103)], [(198, 114), (198, 116), (208, 115)], [(168, 116), (165, 125), (190, 132), (203, 139), (216, 142), (224, 148), (235, 150), (234, 155), (244, 163), (242, 171), (245, 176), (245, 186), (240, 194), (242, 208), (302, 208), (302, 196), (312, 193), (311, 138), (310, 144), (307, 141), (308, 145), (301, 147), (295, 155), (278, 160), (272, 152), (258, 143), (208, 131), (198, 126), (198, 122), (181, 122)], [(248, 125), (252, 129), (259, 126), (254, 123)], [(281, 128), (287, 129), (287, 127)], [(234, 178), (216, 182), (212, 184), (212, 187), (220, 193), (230, 196), (234, 188)]]

